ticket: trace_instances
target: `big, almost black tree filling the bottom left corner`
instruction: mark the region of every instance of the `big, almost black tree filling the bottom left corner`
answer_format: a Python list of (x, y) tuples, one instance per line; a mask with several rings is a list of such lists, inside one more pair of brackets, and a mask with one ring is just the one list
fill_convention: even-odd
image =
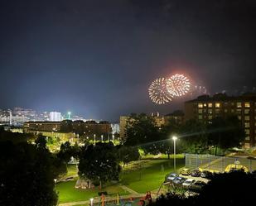
[(0, 205), (56, 205), (51, 153), (27, 142), (0, 142)]

